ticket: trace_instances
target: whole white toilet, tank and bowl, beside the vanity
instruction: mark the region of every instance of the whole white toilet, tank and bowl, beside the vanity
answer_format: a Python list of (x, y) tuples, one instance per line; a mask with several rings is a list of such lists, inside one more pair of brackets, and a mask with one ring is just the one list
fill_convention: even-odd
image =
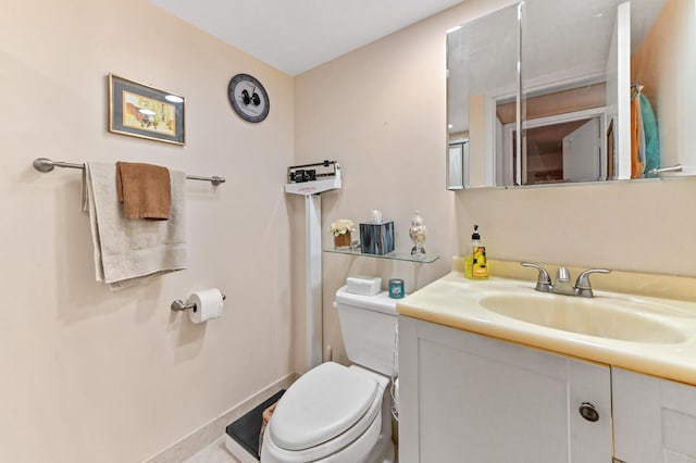
[(391, 463), (389, 381), (396, 301), (336, 292), (351, 366), (323, 363), (290, 386), (263, 435), (261, 463)]

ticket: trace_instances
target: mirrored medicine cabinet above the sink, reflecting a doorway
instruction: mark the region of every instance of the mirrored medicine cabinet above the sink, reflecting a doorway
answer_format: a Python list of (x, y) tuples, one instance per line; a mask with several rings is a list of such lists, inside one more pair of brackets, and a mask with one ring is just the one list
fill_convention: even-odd
[(449, 30), (448, 188), (693, 175), (694, 10), (526, 0)]

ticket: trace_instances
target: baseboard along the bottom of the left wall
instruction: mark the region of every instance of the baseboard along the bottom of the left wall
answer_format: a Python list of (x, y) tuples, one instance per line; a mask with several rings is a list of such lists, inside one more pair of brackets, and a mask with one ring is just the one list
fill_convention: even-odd
[(233, 406), (227, 412), (217, 416), (210, 423), (199, 427), (188, 436), (184, 437), (172, 447), (164, 449), (157, 455), (146, 460), (144, 463), (172, 463), (182, 462), (194, 453), (198, 452), (203, 447), (212, 443), (215, 439), (225, 434), (225, 427), (247, 414), (254, 406), (259, 405), (270, 396), (273, 396), (281, 389), (287, 389), (299, 377), (298, 374), (289, 374), (271, 386), (260, 390), (248, 399), (241, 401), (237, 405)]

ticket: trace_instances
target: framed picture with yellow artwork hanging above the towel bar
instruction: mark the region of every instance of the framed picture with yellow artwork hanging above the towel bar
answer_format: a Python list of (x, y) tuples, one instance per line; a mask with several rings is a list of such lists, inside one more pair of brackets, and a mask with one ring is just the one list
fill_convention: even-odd
[(109, 132), (185, 145), (184, 98), (109, 74)]

